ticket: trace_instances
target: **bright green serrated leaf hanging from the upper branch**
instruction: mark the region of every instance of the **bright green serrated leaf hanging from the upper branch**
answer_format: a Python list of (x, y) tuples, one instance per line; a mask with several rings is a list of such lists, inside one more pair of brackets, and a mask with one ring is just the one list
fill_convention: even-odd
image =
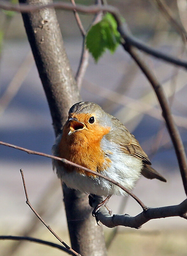
[(110, 13), (106, 13), (100, 22), (92, 26), (86, 36), (86, 46), (96, 62), (106, 49), (113, 53), (119, 42), (117, 23)]

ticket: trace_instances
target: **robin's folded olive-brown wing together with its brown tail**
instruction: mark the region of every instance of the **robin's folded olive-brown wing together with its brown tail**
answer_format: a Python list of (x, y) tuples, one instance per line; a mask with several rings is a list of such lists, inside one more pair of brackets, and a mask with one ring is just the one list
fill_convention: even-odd
[(147, 154), (143, 151), (134, 135), (131, 134), (118, 119), (113, 116), (111, 116), (111, 118), (114, 128), (112, 128), (106, 135), (106, 138), (116, 144), (119, 144), (126, 154), (140, 158), (143, 161), (144, 166), (141, 170), (141, 174), (144, 177), (147, 179), (158, 179), (166, 182), (166, 179), (150, 166), (151, 162)]

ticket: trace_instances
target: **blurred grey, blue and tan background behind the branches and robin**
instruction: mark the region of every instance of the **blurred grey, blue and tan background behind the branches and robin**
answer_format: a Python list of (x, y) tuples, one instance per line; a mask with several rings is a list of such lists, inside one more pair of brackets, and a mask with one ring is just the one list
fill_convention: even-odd
[[(77, 4), (94, 1), (76, 1)], [(185, 38), (167, 18), (158, 1), (107, 1), (120, 9), (132, 34), (162, 52), (186, 59)], [(160, 2), (160, 1), (159, 1)], [(187, 28), (187, 1), (165, 2), (175, 20)], [(74, 14), (57, 11), (64, 45), (74, 74), (79, 64), (82, 37)], [(86, 29), (93, 16), (80, 18)], [(21, 14), (0, 10), (0, 140), (35, 151), (51, 153), (54, 143), (52, 120), (47, 100), (27, 41)], [(187, 74), (183, 68), (141, 53), (169, 99), (183, 143), (187, 143)], [(181, 203), (185, 198), (175, 151), (171, 144), (155, 94), (144, 75), (118, 47), (108, 51), (96, 64), (89, 58), (81, 89), (84, 101), (93, 101), (111, 113), (135, 135), (152, 165), (167, 183), (142, 177), (134, 193), (149, 207)], [(51, 160), (0, 146), (0, 233), (33, 236), (58, 242), (25, 204), (20, 168), (34, 208), (68, 244), (61, 184), (52, 171)], [(132, 198), (112, 197), (113, 213), (136, 215), (140, 206)], [(187, 252), (187, 222), (179, 217), (152, 220), (140, 230), (105, 228), (109, 255), (170, 255)], [(110, 243), (111, 241), (111, 243)], [(65, 255), (44, 245), (0, 240), (0, 255)]]

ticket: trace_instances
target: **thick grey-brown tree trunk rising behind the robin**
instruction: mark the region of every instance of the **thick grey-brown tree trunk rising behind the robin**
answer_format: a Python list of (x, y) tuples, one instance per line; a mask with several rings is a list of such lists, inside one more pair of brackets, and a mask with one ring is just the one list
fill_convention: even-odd
[[(51, 3), (50, 0), (19, 2)], [(69, 108), (80, 101), (80, 96), (63, 47), (56, 13), (53, 9), (45, 9), (22, 16), (57, 135), (67, 120)], [(88, 196), (65, 186), (63, 192), (72, 248), (83, 256), (106, 255), (103, 229), (91, 216)]]

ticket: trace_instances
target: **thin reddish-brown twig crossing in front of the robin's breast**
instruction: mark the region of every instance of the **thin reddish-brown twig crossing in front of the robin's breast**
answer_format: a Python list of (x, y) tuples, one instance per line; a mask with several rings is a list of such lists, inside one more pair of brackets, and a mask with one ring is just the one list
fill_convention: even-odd
[(55, 159), (55, 160), (59, 160), (67, 165), (71, 165), (71, 166), (74, 166), (74, 167), (77, 167), (77, 168), (80, 168), (86, 172), (89, 172), (89, 173), (92, 173), (94, 175), (97, 175), (107, 181), (110, 181), (111, 183), (113, 183), (114, 185), (117, 185), (119, 188), (121, 188), (122, 190), (124, 190), (127, 194), (129, 194), (132, 198), (134, 198), (134, 200), (142, 207), (143, 210), (147, 210), (147, 206), (144, 205), (144, 203), (136, 196), (134, 195), (130, 190), (126, 189), (124, 186), (122, 186), (121, 184), (119, 184), (119, 182), (116, 182), (114, 180), (112, 180), (111, 178), (109, 177), (106, 177), (100, 173), (97, 173), (95, 171), (92, 171), (86, 167), (83, 167), (81, 165), (78, 165), (78, 164), (75, 164), (71, 161), (68, 161), (67, 159), (64, 159), (64, 158), (60, 158), (60, 157), (56, 157), (56, 156), (52, 156), (52, 155), (49, 155), (49, 154), (45, 154), (45, 153), (41, 153), (41, 152), (38, 152), (38, 151), (33, 151), (33, 150), (29, 150), (29, 149), (26, 149), (26, 148), (22, 148), (22, 147), (19, 147), (19, 146), (16, 146), (16, 145), (13, 145), (13, 144), (10, 144), (10, 143), (6, 143), (6, 142), (2, 142), (0, 141), (0, 144), (1, 145), (4, 145), (4, 146), (8, 146), (8, 147), (11, 147), (11, 148), (15, 148), (15, 149), (18, 149), (18, 150), (21, 150), (21, 151), (24, 151), (24, 152), (27, 152), (28, 154), (32, 154), (32, 155), (39, 155), (39, 156), (43, 156), (43, 157), (47, 157), (47, 158), (51, 158), (51, 159)]

